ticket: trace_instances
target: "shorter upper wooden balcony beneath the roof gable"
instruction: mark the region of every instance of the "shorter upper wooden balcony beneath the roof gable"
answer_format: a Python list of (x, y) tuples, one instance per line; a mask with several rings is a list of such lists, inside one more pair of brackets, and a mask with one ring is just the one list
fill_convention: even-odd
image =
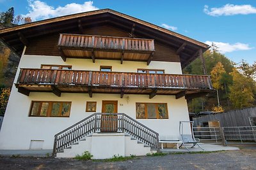
[(155, 50), (154, 39), (122, 38), (60, 34), (58, 48), (62, 59), (111, 59), (145, 61), (150, 63)]

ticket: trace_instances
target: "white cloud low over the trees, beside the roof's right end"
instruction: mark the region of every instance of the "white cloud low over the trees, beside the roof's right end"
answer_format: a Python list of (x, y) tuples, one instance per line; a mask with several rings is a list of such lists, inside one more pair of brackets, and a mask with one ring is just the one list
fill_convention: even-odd
[(223, 43), (223, 42), (215, 42), (215, 41), (205, 41), (205, 44), (207, 45), (214, 45), (218, 46), (218, 50), (221, 53), (227, 53), (227, 52), (234, 52), (239, 50), (251, 50), (253, 47), (250, 47), (248, 44), (244, 43)]

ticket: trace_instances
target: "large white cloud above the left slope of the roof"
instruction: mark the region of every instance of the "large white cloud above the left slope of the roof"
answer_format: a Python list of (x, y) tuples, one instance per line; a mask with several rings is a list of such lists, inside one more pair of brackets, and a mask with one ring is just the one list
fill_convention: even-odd
[(83, 4), (70, 3), (65, 6), (58, 6), (57, 8), (54, 8), (42, 1), (28, 0), (28, 5), (29, 13), (24, 15), (24, 17), (31, 17), (32, 21), (60, 17), (85, 11), (99, 10), (99, 8), (93, 6), (93, 1), (86, 1)]

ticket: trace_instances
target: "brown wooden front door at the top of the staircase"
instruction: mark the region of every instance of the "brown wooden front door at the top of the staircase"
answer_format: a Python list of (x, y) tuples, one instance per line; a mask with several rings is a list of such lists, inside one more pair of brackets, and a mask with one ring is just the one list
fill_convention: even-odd
[[(102, 113), (117, 113), (117, 101), (102, 101)], [(117, 115), (101, 115), (101, 132), (117, 131)]]

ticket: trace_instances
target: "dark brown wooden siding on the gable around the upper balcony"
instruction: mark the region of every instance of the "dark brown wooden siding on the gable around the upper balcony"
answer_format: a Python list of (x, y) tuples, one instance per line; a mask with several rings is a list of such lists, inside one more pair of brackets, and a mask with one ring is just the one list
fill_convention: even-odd
[[(60, 32), (63, 33), (63, 32)], [(72, 34), (81, 34), (81, 32), (65, 32)], [(129, 38), (128, 32), (121, 31), (109, 25), (85, 28), (84, 34), (92, 34), (96, 36), (119, 36)], [(29, 39), (29, 46), (26, 48), (26, 55), (53, 55), (60, 56), (58, 50), (58, 39), (60, 34), (52, 34), (50, 36), (40, 37), (38, 39)], [(140, 37), (143, 38), (143, 37)], [(77, 56), (82, 55), (81, 53)], [(126, 56), (124, 56), (125, 58)], [(179, 55), (176, 54), (174, 48), (161, 45), (155, 41), (155, 52), (153, 60), (166, 61), (166, 62), (180, 62)]]

